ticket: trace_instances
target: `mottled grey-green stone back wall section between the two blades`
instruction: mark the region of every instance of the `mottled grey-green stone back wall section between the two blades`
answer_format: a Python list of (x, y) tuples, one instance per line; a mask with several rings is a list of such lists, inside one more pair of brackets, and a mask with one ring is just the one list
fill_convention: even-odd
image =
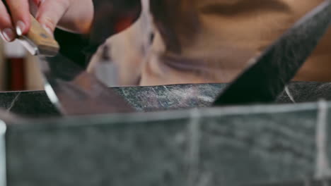
[(123, 87), (117, 89), (137, 111), (210, 106), (225, 84)]

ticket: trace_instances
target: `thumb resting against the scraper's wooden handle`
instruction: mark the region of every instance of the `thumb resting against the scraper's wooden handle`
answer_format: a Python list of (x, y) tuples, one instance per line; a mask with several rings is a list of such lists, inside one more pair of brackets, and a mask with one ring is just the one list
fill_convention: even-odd
[(40, 24), (53, 34), (55, 27), (57, 27), (57, 23), (64, 16), (64, 13), (68, 10), (70, 5), (70, 1), (67, 0), (44, 0), (41, 1), (40, 6), (38, 8), (36, 19), (40, 22)]

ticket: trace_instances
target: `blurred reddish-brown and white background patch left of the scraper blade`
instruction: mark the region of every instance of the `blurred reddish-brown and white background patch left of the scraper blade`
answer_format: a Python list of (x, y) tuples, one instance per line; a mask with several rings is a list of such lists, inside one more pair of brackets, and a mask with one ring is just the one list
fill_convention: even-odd
[(0, 39), (0, 91), (41, 90), (42, 75), (35, 56), (19, 42)]

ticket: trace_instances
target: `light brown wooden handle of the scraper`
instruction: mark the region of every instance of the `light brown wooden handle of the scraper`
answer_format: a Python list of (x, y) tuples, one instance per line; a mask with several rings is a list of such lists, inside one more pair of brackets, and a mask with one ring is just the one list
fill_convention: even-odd
[(59, 44), (40, 23), (31, 16), (31, 27), (26, 35), (30, 42), (37, 46), (39, 54), (45, 56), (56, 56), (59, 52)]

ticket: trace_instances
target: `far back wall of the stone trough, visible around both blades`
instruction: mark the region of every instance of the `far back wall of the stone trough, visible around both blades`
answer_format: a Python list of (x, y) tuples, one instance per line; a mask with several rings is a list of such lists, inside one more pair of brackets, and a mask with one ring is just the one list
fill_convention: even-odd
[[(168, 85), (114, 88), (137, 111), (164, 111), (211, 106), (226, 84)], [(331, 83), (293, 82), (277, 103), (331, 99)], [(0, 93), (0, 108), (33, 118), (59, 116), (43, 91)]]

